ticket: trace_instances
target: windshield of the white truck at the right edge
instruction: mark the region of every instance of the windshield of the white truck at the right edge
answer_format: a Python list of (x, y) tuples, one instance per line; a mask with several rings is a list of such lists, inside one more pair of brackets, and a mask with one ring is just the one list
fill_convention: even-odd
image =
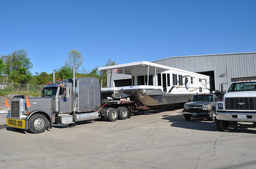
[(256, 82), (232, 83), (228, 92), (256, 91)]

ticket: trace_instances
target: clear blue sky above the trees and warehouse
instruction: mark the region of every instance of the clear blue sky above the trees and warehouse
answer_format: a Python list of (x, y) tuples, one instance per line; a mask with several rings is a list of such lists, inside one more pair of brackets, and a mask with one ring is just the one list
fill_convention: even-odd
[(31, 72), (172, 56), (255, 52), (256, 1), (0, 1), (0, 55), (25, 48)]

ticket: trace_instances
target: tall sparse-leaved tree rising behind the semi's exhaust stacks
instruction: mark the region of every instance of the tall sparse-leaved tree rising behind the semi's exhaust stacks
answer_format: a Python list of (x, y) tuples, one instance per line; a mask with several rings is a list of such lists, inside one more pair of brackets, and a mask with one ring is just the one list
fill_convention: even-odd
[[(73, 69), (76, 65), (75, 71), (79, 71), (79, 67), (83, 64), (84, 58), (82, 57), (81, 53), (75, 49), (72, 49), (68, 53), (68, 58), (65, 63), (65, 67)], [(78, 73), (78, 72), (77, 72)]]

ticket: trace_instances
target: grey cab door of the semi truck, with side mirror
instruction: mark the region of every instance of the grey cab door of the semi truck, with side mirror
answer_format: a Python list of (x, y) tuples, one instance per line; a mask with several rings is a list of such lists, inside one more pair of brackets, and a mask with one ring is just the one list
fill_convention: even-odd
[(64, 88), (60, 88), (60, 112), (69, 112), (71, 111), (71, 98), (70, 98), (70, 88), (66, 88), (67, 97), (64, 95)]

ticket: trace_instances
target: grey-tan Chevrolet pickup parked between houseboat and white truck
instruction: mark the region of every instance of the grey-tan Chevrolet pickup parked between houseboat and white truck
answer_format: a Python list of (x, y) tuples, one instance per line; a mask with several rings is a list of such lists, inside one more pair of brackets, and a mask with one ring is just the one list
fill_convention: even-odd
[(207, 117), (209, 120), (215, 120), (215, 103), (219, 101), (219, 96), (215, 93), (197, 94), (184, 104), (183, 115), (185, 120), (190, 120), (190, 117)]

